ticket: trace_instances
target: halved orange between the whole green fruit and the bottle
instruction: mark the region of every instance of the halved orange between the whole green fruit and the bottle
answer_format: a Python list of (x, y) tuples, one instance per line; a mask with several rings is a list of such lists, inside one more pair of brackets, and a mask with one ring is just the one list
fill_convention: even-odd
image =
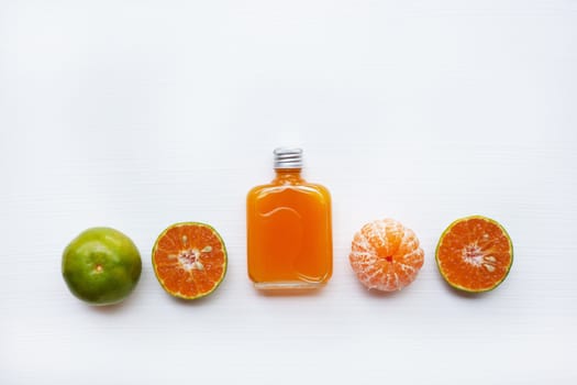
[(214, 292), (226, 274), (226, 262), (224, 241), (206, 223), (173, 224), (153, 248), (156, 278), (167, 293), (184, 299)]

